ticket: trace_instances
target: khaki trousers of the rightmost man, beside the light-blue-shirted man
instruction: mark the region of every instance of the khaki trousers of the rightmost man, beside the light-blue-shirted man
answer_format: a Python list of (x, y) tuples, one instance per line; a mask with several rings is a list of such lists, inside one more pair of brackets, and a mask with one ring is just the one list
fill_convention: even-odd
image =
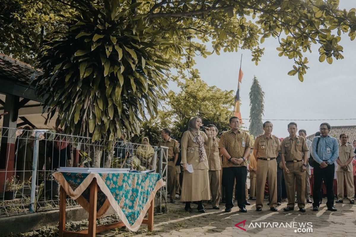
[(354, 200), (355, 197), (355, 186), (354, 186), (354, 177), (352, 172), (347, 171), (336, 171), (337, 179), (337, 198), (339, 200), (344, 199), (344, 180), (346, 183), (346, 195), (347, 199)]

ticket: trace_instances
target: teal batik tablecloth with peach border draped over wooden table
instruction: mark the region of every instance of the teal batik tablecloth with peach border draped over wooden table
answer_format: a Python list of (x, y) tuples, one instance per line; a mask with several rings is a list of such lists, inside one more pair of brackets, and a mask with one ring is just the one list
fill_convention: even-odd
[(158, 173), (53, 173), (66, 193), (89, 212), (89, 185), (93, 178), (98, 184), (97, 218), (110, 206), (124, 225), (137, 231), (156, 192), (163, 186)]

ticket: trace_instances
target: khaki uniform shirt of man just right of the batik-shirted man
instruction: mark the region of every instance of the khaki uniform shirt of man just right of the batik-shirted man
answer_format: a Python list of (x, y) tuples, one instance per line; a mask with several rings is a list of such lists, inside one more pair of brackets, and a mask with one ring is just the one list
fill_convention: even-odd
[(279, 139), (274, 135), (269, 138), (265, 134), (257, 136), (253, 146), (253, 150), (257, 151), (256, 160), (258, 158), (276, 158), (280, 149)]

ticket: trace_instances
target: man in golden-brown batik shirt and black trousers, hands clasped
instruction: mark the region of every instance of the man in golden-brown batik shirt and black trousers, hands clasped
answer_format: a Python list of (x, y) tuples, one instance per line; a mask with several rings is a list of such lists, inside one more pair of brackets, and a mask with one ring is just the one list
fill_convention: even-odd
[(250, 136), (240, 130), (238, 117), (229, 119), (230, 130), (221, 134), (219, 149), (224, 156), (223, 160), (223, 183), (225, 186), (225, 212), (231, 212), (234, 206), (232, 196), (236, 181), (237, 205), (240, 212), (247, 212), (245, 185), (247, 178), (247, 157), (251, 151)]

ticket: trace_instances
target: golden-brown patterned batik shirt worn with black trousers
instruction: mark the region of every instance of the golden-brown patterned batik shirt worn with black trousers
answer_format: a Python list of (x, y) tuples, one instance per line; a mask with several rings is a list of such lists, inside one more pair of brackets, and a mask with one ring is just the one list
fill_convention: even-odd
[[(219, 148), (225, 148), (227, 153), (233, 158), (242, 158), (247, 148), (252, 148), (250, 136), (245, 131), (237, 131), (234, 133), (231, 129), (221, 134)], [(244, 161), (240, 165), (228, 161), (230, 157), (223, 157), (223, 168), (247, 166)]]

